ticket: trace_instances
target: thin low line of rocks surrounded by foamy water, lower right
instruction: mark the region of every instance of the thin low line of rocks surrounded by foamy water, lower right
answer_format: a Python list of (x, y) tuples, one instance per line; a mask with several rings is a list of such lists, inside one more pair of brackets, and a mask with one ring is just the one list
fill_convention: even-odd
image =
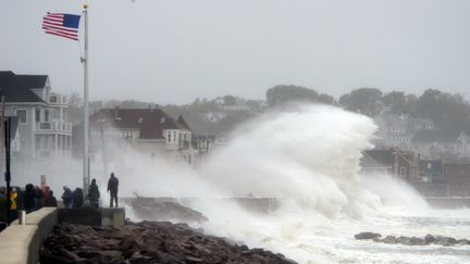
[(423, 238), (418, 237), (395, 237), (395, 236), (386, 236), (385, 238), (382, 238), (382, 235), (378, 232), (359, 232), (355, 235), (355, 238), (357, 240), (368, 240), (372, 239), (374, 242), (382, 242), (382, 243), (389, 243), (389, 244), (406, 244), (406, 246), (426, 246), (426, 244), (441, 244), (441, 246), (470, 246), (470, 240), (468, 239), (456, 239), (453, 237), (445, 237), (445, 236), (433, 236), (428, 234)]

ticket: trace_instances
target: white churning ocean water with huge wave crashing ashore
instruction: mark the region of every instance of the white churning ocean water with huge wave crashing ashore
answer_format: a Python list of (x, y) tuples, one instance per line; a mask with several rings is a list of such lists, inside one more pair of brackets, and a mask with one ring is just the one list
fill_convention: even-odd
[[(269, 113), (236, 130), (197, 171), (159, 164), (151, 173), (143, 163), (146, 173), (135, 173), (148, 174), (148, 185), (138, 190), (197, 197), (189, 205), (208, 216), (207, 232), (299, 263), (470, 263), (469, 246), (354, 238), (361, 231), (470, 238), (470, 210), (434, 210), (396, 177), (360, 175), (361, 151), (373, 147), (375, 129), (370, 118), (331, 106)], [(253, 213), (214, 199), (247, 196), (276, 198), (280, 206)]]

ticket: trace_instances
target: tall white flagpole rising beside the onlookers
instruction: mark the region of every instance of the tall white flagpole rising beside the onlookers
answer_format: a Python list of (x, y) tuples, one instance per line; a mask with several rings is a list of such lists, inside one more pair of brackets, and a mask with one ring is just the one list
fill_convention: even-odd
[(85, 18), (85, 58), (84, 62), (84, 155), (83, 155), (83, 174), (84, 174), (84, 189), (85, 194), (88, 194), (89, 186), (89, 152), (88, 152), (88, 4), (84, 4), (84, 18)]

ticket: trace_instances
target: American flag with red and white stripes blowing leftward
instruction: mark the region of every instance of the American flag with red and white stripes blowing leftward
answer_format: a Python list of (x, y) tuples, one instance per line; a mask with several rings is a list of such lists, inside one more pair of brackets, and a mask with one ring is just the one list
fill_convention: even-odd
[(78, 40), (79, 18), (79, 15), (48, 12), (42, 18), (42, 29), (46, 34)]

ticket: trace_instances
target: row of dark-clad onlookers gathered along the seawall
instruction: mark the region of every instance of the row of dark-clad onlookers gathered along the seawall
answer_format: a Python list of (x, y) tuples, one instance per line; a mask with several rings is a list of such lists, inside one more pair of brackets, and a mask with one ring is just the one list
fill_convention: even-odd
[[(114, 202), (118, 208), (118, 187), (119, 179), (111, 173), (108, 180), (108, 191), (110, 192), (110, 208), (113, 208)], [(62, 201), (65, 209), (79, 209), (79, 208), (99, 208), (100, 191), (96, 179), (91, 180), (91, 185), (88, 188), (88, 196), (84, 196), (82, 188), (75, 188), (72, 191), (67, 186), (63, 187)], [(7, 222), (7, 188), (0, 187), (0, 222)], [(57, 208), (58, 201), (54, 197), (54, 192), (49, 186), (34, 186), (27, 184), (24, 190), (18, 187), (10, 187), (10, 221), (17, 218), (17, 212), (25, 210), (26, 213), (39, 210), (41, 208)]]

